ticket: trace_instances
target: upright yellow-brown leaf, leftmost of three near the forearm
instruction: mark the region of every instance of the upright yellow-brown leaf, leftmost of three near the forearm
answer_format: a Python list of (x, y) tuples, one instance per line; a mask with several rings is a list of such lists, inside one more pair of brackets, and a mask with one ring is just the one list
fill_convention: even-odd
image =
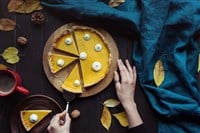
[(111, 126), (111, 114), (107, 107), (104, 106), (103, 112), (101, 115), (101, 124), (109, 131)]

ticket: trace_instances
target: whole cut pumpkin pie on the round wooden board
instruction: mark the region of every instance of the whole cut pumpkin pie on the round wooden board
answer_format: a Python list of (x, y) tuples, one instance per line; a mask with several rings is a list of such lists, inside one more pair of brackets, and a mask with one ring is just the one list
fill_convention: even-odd
[(112, 60), (110, 49), (104, 36), (93, 28), (72, 26), (70, 32), (60, 34), (54, 42), (53, 48), (57, 58), (51, 59), (53, 58), (51, 57), (49, 60), (52, 73), (56, 73), (62, 67), (70, 64), (62, 67), (57, 65), (58, 59), (61, 57), (59, 56), (60, 52), (56, 52), (56, 50), (63, 51), (63, 55), (71, 54), (72, 59), (67, 57), (68, 60), (78, 59), (71, 73), (63, 79), (63, 84), (61, 84), (61, 88), (66, 91), (82, 93), (83, 89), (98, 84), (109, 71)]

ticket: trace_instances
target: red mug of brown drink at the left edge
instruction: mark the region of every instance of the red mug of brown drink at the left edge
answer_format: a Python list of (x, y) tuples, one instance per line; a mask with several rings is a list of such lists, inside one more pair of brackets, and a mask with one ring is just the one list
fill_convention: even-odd
[(21, 77), (10, 69), (0, 70), (0, 96), (7, 96), (14, 91), (27, 95), (29, 91), (21, 86)]

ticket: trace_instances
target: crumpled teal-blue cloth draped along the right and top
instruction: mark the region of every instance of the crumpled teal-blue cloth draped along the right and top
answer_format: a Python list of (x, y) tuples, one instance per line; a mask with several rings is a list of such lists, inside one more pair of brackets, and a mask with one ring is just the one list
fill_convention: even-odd
[[(116, 8), (107, 3), (108, 0), (42, 0), (48, 8), (76, 19), (99, 19), (137, 35), (133, 60), (140, 84), (160, 116), (158, 132), (199, 133), (200, 46), (196, 36), (200, 33), (200, 1), (126, 0)], [(153, 69), (158, 60), (163, 62), (165, 79), (156, 87)]]

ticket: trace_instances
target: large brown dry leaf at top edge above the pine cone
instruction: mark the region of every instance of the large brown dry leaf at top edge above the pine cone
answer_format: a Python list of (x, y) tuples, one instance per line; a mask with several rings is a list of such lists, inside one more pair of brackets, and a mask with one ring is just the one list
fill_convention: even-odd
[(40, 9), (40, 0), (11, 0), (8, 4), (9, 12), (31, 13)]

